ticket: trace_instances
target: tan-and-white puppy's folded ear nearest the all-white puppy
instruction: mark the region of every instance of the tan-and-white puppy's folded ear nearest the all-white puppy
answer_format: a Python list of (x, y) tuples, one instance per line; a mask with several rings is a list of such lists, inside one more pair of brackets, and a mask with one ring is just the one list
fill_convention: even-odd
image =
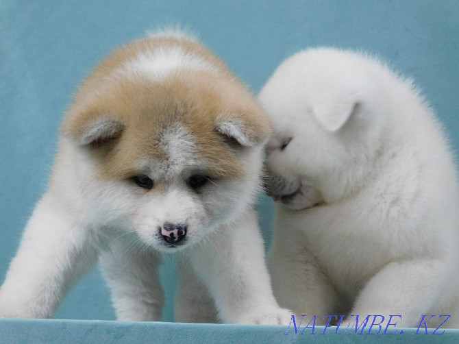
[(242, 147), (264, 144), (272, 131), (272, 125), (264, 114), (253, 116), (225, 116), (216, 123), (216, 131), (223, 135), (228, 143)]

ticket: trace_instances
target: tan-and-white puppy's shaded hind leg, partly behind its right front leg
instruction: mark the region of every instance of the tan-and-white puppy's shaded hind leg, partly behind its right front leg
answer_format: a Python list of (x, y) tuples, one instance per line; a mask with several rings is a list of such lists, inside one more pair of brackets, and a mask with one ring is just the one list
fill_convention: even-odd
[(178, 257), (179, 280), (175, 292), (175, 321), (182, 323), (216, 323), (215, 302), (188, 262)]

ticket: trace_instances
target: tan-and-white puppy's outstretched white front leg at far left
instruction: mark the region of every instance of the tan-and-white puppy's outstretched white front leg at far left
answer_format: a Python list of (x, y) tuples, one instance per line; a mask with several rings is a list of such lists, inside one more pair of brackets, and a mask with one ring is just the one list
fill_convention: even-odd
[(47, 193), (32, 214), (0, 289), (0, 317), (51, 317), (97, 260), (97, 236)]

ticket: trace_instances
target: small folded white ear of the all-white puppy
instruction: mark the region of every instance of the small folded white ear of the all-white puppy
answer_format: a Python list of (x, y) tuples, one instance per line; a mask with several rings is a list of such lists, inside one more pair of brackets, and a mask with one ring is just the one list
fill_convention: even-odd
[(360, 103), (338, 104), (338, 106), (324, 106), (323, 108), (313, 109), (314, 116), (319, 124), (329, 132), (340, 130), (351, 115), (358, 110)]

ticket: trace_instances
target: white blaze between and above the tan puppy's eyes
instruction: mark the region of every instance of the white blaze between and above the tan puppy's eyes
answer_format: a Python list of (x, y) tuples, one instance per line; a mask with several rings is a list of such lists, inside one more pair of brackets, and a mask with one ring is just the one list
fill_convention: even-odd
[(169, 169), (182, 170), (195, 164), (195, 140), (185, 127), (177, 125), (171, 128), (162, 136), (161, 144), (168, 155)]

